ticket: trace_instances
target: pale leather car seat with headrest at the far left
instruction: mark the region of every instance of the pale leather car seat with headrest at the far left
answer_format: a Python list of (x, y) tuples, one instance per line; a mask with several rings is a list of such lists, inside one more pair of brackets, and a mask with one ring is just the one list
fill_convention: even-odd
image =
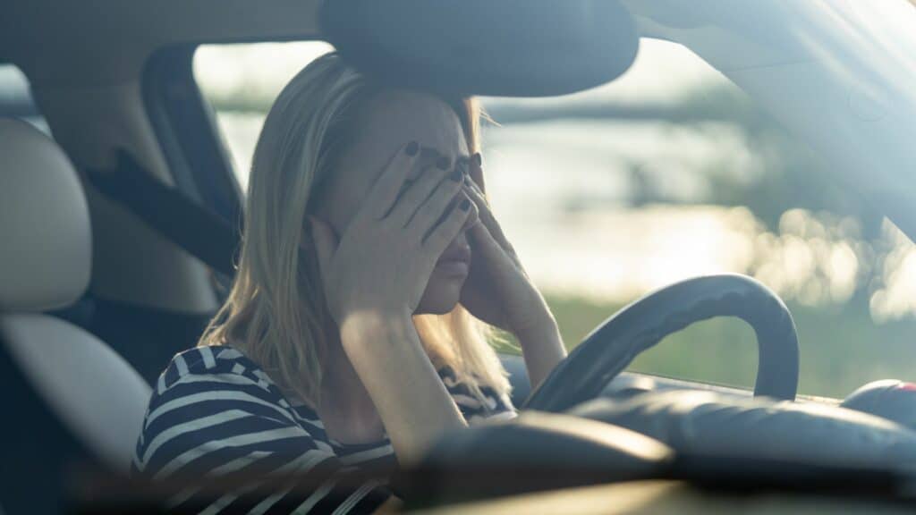
[[(23, 420), (41, 409), (93, 460), (126, 472), (149, 385), (98, 338), (45, 314), (80, 299), (89, 284), (92, 235), (82, 184), (63, 151), (18, 120), (0, 118), (0, 158), (0, 374), (11, 396), (4, 424), (19, 437), (4, 445), (25, 445), (22, 436), (46, 431), (47, 420)], [(58, 479), (54, 466), (41, 466), (49, 468), (45, 481)]]

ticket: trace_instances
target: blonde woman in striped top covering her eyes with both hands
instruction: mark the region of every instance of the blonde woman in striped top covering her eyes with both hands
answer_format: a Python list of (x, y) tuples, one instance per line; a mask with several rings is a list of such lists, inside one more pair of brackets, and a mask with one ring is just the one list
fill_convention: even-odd
[(389, 472), (443, 433), (514, 416), (485, 324), (518, 338), (533, 385), (565, 356), (485, 201), (477, 117), (471, 101), (374, 84), (335, 53), (279, 94), (233, 289), (159, 378), (135, 466), (319, 486), (189, 488), (171, 506), (375, 510), (391, 493), (350, 471)]

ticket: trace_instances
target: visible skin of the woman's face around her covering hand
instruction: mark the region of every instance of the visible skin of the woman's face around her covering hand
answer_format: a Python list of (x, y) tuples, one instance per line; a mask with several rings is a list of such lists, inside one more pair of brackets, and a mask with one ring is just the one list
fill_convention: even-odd
[[(381, 93), (365, 115), (362, 134), (344, 150), (316, 198), (316, 214), (341, 235), (388, 160), (409, 141), (420, 144), (420, 159), (409, 170), (416, 181), (441, 157), (467, 160), (468, 148), (458, 115), (431, 95), (409, 91)], [(458, 303), (470, 266), (471, 249), (464, 232), (442, 254), (420, 299), (417, 314), (451, 312)]]

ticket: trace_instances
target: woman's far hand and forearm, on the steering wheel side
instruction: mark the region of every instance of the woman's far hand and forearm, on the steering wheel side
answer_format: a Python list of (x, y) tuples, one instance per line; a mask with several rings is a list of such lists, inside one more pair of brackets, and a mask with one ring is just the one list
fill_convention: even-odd
[(477, 318), (514, 334), (522, 347), (531, 386), (537, 388), (566, 356), (547, 302), (528, 277), (483, 191), (480, 154), (471, 159), (464, 192), (479, 217), (468, 230), (472, 259), (461, 302)]

